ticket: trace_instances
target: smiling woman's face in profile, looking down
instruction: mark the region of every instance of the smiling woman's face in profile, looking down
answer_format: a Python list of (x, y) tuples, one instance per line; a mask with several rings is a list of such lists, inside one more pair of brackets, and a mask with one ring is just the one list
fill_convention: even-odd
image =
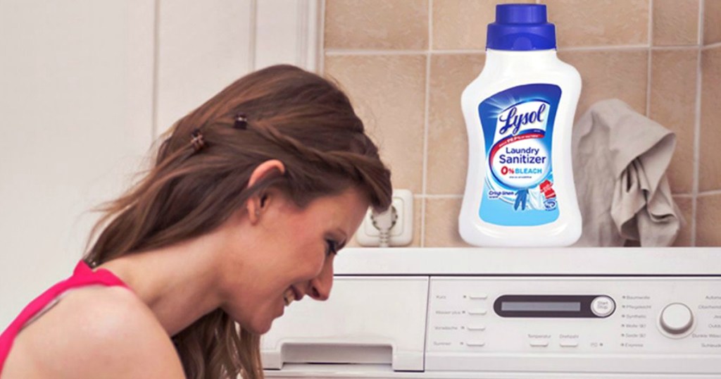
[[(251, 229), (252, 256), (244, 258), (236, 290), (224, 307), (249, 331), (263, 334), (293, 301), (308, 295), (326, 300), (333, 283), (335, 251), (361, 225), (368, 201), (355, 188), (325, 196), (304, 209), (275, 193)], [(248, 216), (252, 218), (252, 216)], [(248, 248), (249, 246), (244, 246)]]

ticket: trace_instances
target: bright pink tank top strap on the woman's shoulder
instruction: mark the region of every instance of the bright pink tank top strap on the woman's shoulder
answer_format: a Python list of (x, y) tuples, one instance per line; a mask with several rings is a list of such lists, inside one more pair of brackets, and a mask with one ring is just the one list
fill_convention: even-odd
[(66, 292), (68, 289), (74, 289), (78, 287), (90, 286), (90, 285), (104, 285), (104, 286), (122, 286), (128, 288), (122, 280), (112, 274), (112, 272), (105, 269), (97, 269), (92, 271), (90, 267), (84, 261), (80, 261), (73, 275), (68, 279), (55, 284), (50, 287), (47, 291), (32, 300), (25, 309), (10, 323), (4, 332), (0, 335), (0, 375), (2, 375), (2, 368), (5, 365), (5, 359), (10, 352), (12, 342), (14, 341), (17, 334), (26, 326), (29, 321), (32, 321), (35, 315), (39, 315), (45, 310), (48, 305), (56, 302), (59, 296)]

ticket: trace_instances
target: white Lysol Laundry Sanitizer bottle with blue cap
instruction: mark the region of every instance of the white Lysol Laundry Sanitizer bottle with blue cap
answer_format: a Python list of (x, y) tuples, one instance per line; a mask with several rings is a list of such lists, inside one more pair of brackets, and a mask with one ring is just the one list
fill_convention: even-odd
[(461, 238), (567, 246), (581, 233), (571, 164), (578, 71), (556, 56), (545, 5), (501, 4), (485, 66), (461, 96), (469, 142)]

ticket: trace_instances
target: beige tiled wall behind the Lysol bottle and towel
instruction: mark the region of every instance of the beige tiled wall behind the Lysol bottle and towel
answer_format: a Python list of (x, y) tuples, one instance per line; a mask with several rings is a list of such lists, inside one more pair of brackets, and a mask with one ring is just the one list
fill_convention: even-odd
[(459, 98), (499, 2), (547, 4), (559, 57), (583, 78), (577, 116), (618, 97), (676, 133), (676, 245), (721, 245), (721, 0), (324, 0), (323, 71), (381, 145), (394, 187), (415, 193), (412, 245), (465, 245)]

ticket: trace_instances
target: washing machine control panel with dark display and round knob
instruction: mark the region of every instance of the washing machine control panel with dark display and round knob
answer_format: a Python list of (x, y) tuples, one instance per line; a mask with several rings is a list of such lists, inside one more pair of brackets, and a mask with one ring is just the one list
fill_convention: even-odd
[(721, 279), (435, 276), (427, 326), (427, 354), (721, 354)]

